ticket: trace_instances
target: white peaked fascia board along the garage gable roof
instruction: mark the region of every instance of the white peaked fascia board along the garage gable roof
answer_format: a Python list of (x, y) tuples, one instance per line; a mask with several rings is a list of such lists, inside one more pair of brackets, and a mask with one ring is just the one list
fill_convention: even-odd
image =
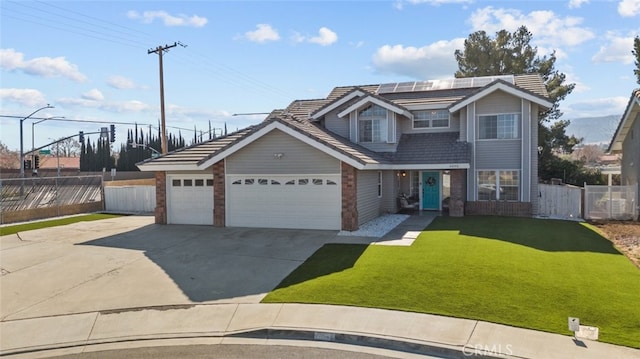
[(312, 138), (310, 138), (309, 136), (306, 136), (294, 129), (292, 129), (289, 126), (286, 126), (280, 122), (274, 121), (273, 123), (270, 123), (269, 125), (261, 128), (260, 130), (256, 131), (255, 133), (249, 135), (247, 138), (239, 141), (238, 143), (232, 145), (231, 147), (229, 147), (228, 149), (218, 153), (217, 155), (213, 156), (212, 158), (208, 159), (207, 161), (201, 163), (200, 165), (198, 165), (198, 170), (204, 170), (210, 166), (212, 166), (214, 163), (225, 159), (226, 157), (232, 155), (233, 153), (239, 151), (240, 149), (244, 148), (245, 146), (247, 146), (248, 144), (252, 143), (253, 141), (259, 139), (260, 137), (264, 136), (265, 134), (278, 129), (288, 135), (290, 135), (291, 137), (294, 137), (304, 143), (306, 143), (307, 145), (320, 150), (324, 153), (326, 153), (327, 155), (334, 157), (342, 162), (345, 162), (347, 164), (349, 164), (350, 166), (356, 168), (356, 169), (362, 169), (364, 167), (364, 165), (356, 160), (354, 160), (353, 158), (344, 155), (343, 153), (341, 153), (340, 151), (337, 151), (329, 146), (326, 146), (318, 141), (313, 140)]

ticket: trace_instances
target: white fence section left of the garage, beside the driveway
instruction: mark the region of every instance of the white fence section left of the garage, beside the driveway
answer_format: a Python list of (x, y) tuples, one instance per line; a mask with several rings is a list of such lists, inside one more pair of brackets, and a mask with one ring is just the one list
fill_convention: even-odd
[(154, 186), (105, 186), (104, 202), (107, 212), (153, 213), (156, 208)]

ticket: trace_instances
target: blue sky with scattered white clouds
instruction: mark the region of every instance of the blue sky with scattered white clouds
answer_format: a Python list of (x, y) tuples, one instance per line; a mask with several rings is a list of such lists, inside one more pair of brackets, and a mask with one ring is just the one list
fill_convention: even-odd
[(111, 123), (116, 151), (135, 124), (157, 133), (150, 51), (166, 45), (166, 125), (189, 142), (194, 128), (208, 139), (209, 123), (235, 131), (336, 86), (451, 78), (469, 34), (522, 25), (576, 84), (562, 119), (622, 115), (638, 87), (640, 0), (2, 0), (0, 141), (19, 149), (20, 118), (47, 104), (23, 121), (25, 151)]

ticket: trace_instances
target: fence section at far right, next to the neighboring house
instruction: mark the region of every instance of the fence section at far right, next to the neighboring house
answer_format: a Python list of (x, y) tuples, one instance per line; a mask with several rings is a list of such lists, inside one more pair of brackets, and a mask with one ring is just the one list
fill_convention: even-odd
[(585, 219), (631, 220), (637, 216), (638, 186), (585, 185)]

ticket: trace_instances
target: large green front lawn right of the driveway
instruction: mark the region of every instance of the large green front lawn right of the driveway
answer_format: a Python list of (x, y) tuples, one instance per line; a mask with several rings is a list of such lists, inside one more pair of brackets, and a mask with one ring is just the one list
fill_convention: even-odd
[(263, 302), (432, 313), (640, 348), (640, 270), (588, 224), (438, 217), (411, 247), (330, 244)]

